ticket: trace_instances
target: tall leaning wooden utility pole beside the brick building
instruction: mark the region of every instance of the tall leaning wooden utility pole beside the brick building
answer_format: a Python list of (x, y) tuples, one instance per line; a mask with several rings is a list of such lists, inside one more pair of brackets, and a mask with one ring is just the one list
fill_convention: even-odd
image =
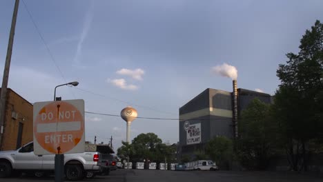
[[(4, 115), (6, 112), (6, 96), (7, 96), (7, 87), (8, 87), (11, 55), (12, 55), (12, 45), (13, 45), (13, 40), (14, 40), (14, 30), (16, 29), (18, 7), (19, 7), (19, 0), (16, 0), (16, 2), (14, 3), (14, 12), (13, 12), (12, 21), (11, 21), (6, 63), (5, 63), (5, 67), (3, 69), (3, 79), (2, 79), (2, 86), (1, 86), (1, 101), (0, 101), (0, 127), (1, 127), (0, 128), (0, 147), (1, 148), (2, 148), (3, 129), (4, 129), (3, 128), (3, 123), (4, 123), (3, 121), (4, 121)], [(0, 148), (0, 150), (1, 150), (1, 148)]]

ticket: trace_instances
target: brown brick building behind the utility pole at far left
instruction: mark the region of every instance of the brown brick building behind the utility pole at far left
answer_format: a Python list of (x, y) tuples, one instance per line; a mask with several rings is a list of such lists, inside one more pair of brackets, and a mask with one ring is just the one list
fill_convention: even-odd
[[(0, 88), (1, 91), (1, 88)], [(33, 106), (10, 88), (6, 94), (6, 110), (3, 119), (1, 150), (16, 150), (32, 141)]]

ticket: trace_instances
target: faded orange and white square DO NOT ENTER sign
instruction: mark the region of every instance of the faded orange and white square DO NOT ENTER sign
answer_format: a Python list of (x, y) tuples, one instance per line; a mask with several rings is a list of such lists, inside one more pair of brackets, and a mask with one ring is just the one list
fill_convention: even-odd
[(35, 154), (84, 152), (84, 100), (34, 104)]

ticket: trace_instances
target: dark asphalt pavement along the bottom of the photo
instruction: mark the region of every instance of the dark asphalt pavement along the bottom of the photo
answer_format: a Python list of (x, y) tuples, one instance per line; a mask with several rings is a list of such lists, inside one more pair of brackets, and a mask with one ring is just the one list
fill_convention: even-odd
[[(49, 182), (55, 181), (54, 177), (37, 178), (21, 176), (19, 178), (12, 177), (8, 179), (0, 179), (0, 181), (37, 181)], [(161, 171), (161, 170), (117, 170), (112, 171), (110, 176), (95, 176), (93, 179), (84, 179), (85, 182), (161, 182), (161, 181), (176, 181), (176, 182), (198, 182), (198, 181), (223, 181), (223, 182), (236, 182), (236, 181), (313, 181), (322, 182), (323, 177), (309, 176), (304, 174), (291, 174), (282, 172), (235, 172), (235, 171)]]

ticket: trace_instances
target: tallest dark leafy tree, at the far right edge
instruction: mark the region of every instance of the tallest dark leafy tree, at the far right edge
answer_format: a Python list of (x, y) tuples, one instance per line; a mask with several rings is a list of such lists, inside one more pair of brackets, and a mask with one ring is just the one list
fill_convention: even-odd
[(306, 170), (309, 142), (323, 139), (323, 24), (316, 21), (300, 40), (298, 54), (277, 70), (281, 84), (275, 93), (275, 118), (295, 171)]

